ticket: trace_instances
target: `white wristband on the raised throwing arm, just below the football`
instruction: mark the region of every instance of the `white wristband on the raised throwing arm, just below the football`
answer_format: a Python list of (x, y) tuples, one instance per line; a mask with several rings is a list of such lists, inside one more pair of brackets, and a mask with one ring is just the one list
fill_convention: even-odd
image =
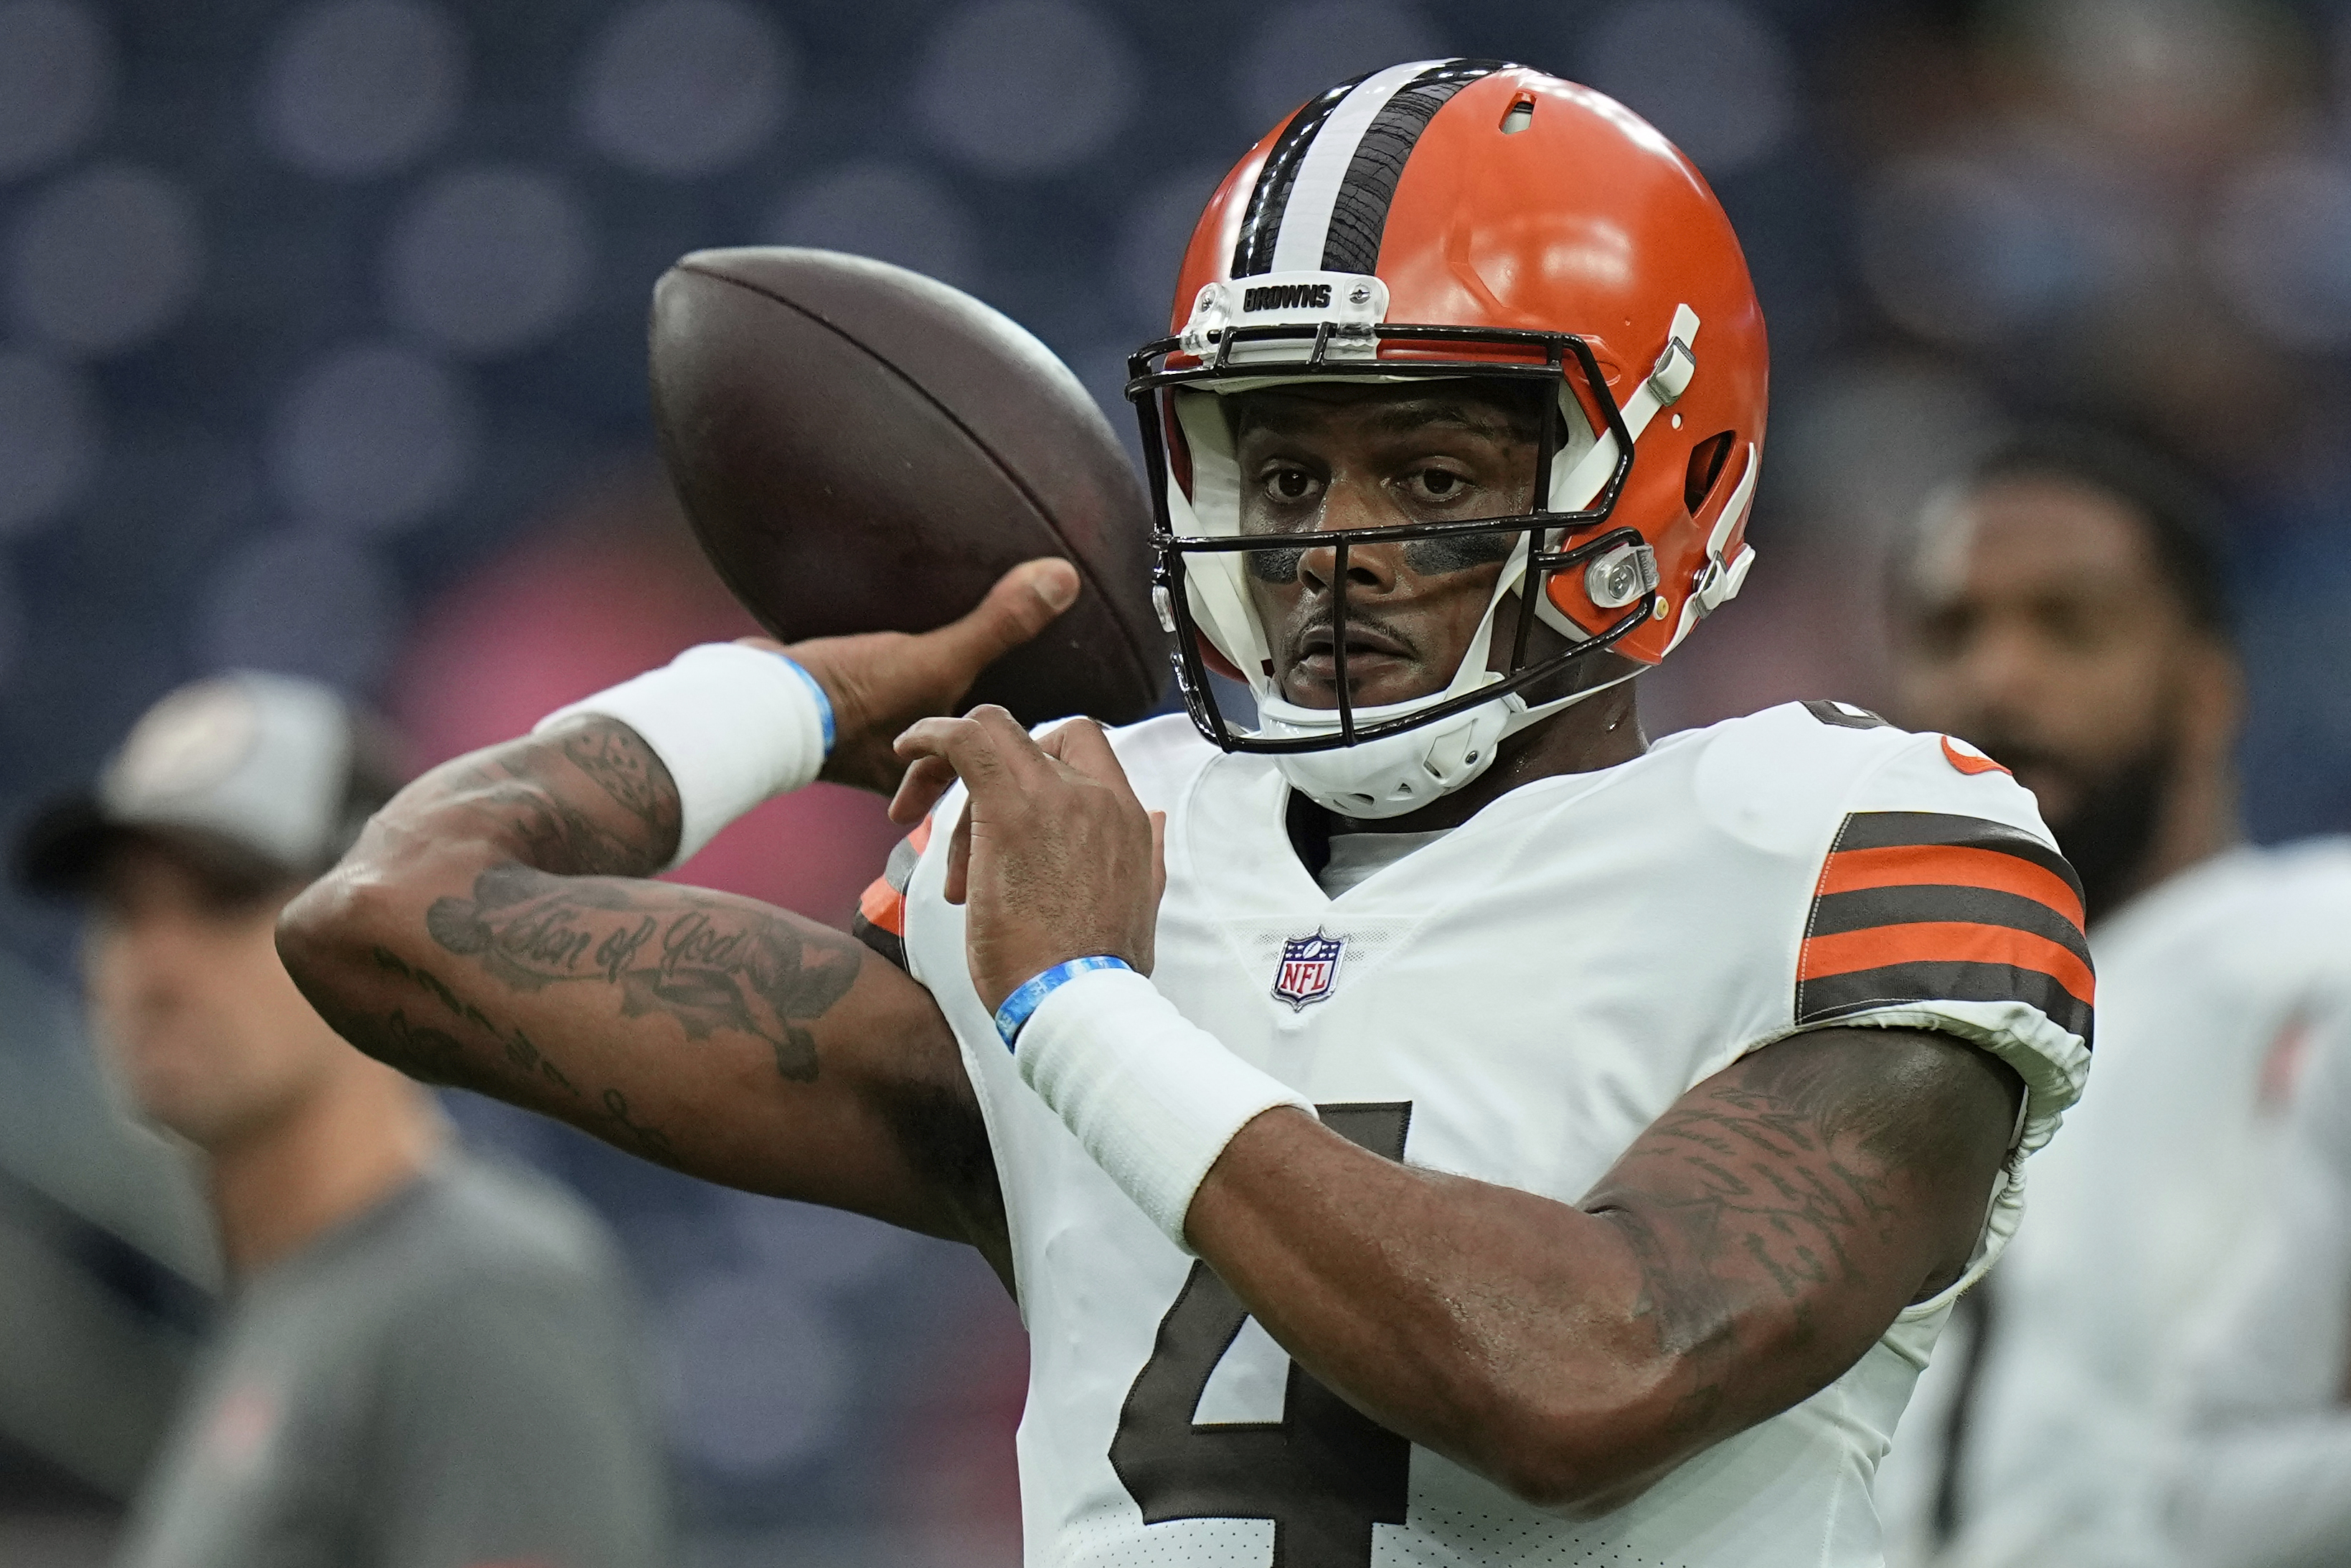
[(832, 750), (832, 703), (783, 654), (705, 642), (658, 670), (557, 708), (531, 733), (583, 712), (621, 719), (654, 748), (677, 783), (679, 827), (670, 865), (771, 795), (816, 778)]

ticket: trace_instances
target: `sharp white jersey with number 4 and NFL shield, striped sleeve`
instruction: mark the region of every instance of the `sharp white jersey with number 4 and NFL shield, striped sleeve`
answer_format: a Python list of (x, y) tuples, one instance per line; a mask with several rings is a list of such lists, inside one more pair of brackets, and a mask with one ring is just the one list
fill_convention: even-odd
[[(2031, 1091), (1987, 1194), (1982, 1269), (2015, 1229), (2024, 1150), (2088, 1070), (2071, 872), (2031, 795), (1940, 736), (1775, 708), (1521, 785), (1340, 898), (1300, 865), (1267, 759), (1220, 755), (1180, 717), (1112, 745), (1166, 811), (1152, 983), (1389, 1159), (1575, 1204), (1747, 1051), (1829, 1023), (1937, 1027)], [(952, 795), (936, 820), (959, 809)], [(1871, 1472), (1958, 1286), (1636, 1502), (1589, 1521), (1533, 1509), (1295, 1371), (1086, 1159), (971, 987), (964, 912), (940, 893), (947, 837), (900, 860), (900, 907), (882, 889), (868, 912), (903, 929), (987, 1119), (1030, 1328), (1032, 1566), (1878, 1561)]]

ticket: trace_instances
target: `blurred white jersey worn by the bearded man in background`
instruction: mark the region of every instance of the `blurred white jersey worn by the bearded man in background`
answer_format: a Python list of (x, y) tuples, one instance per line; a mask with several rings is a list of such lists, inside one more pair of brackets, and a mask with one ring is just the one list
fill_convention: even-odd
[[(1888, 1462), (1895, 1561), (1951, 1486), (1961, 1563), (2161, 1563), (2161, 1401), (2264, 1208), (2311, 1023), (2351, 997), (2351, 842), (2238, 849), (2099, 922), (2097, 1086), (2034, 1171), (2034, 1225), (1987, 1286), (1991, 1333)], [(1956, 1474), (1944, 1479), (1944, 1469)]]

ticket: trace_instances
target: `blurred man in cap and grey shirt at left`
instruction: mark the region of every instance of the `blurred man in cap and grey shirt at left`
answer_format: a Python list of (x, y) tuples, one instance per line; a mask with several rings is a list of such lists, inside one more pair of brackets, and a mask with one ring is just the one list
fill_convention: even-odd
[(602, 1225), (458, 1150), (277, 961), (277, 910), (393, 797), (393, 757), (329, 689), (228, 675), (148, 710), (19, 844), (28, 886), (87, 898), (96, 1034), (136, 1110), (205, 1157), (230, 1279), (132, 1568), (668, 1556)]

